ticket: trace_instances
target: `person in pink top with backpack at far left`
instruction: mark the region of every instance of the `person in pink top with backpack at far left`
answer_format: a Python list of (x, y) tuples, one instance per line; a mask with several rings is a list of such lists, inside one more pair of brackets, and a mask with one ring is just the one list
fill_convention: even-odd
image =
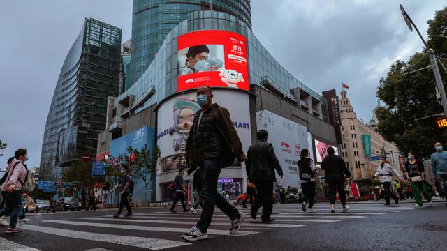
[(10, 214), (9, 227), (6, 233), (19, 233), (22, 229), (16, 228), (20, 210), (22, 210), (22, 186), (27, 182), (28, 169), (24, 162), (28, 160), (27, 150), (18, 149), (15, 151), (15, 161), (8, 172), (8, 177), (1, 189), (5, 199), (5, 208), (0, 210), (0, 217)]

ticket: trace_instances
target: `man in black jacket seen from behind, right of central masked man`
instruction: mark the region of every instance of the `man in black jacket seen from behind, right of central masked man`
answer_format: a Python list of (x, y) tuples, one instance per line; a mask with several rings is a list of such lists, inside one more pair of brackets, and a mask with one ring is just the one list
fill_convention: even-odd
[(247, 176), (254, 183), (256, 190), (258, 190), (258, 194), (256, 194), (254, 199), (254, 205), (251, 206), (250, 215), (251, 218), (256, 219), (256, 213), (258, 213), (258, 209), (263, 204), (262, 221), (271, 222), (274, 220), (270, 218), (273, 210), (273, 183), (277, 181), (274, 170), (277, 170), (281, 178), (283, 173), (277, 156), (274, 154), (272, 144), (267, 142), (268, 132), (259, 130), (257, 137), (258, 142), (250, 146), (247, 152), (247, 161), (245, 162)]

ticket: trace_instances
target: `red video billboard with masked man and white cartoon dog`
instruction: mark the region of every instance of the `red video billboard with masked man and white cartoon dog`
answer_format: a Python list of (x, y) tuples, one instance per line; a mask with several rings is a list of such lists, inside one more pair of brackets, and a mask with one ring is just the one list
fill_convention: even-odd
[(177, 91), (200, 86), (248, 91), (247, 45), (229, 31), (194, 31), (177, 39)]

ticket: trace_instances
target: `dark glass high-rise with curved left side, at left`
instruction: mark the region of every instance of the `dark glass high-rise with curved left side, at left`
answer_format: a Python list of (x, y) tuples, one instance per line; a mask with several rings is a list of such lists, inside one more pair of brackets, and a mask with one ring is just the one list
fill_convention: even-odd
[(43, 135), (41, 179), (61, 178), (82, 153), (96, 153), (108, 96), (117, 96), (121, 29), (85, 19), (61, 69)]

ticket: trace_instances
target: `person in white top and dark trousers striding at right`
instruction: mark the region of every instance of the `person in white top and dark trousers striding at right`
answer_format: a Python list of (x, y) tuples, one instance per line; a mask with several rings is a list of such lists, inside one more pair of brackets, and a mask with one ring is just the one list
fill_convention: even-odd
[(377, 168), (374, 177), (383, 183), (383, 190), (385, 190), (385, 206), (390, 205), (390, 197), (392, 197), (395, 203), (399, 203), (399, 198), (390, 190), (391, 182), (393, 181), (393, 175), (400, 178), (400, 174), (386, 162), (386, 156), (380, 158), (380, 165)]

